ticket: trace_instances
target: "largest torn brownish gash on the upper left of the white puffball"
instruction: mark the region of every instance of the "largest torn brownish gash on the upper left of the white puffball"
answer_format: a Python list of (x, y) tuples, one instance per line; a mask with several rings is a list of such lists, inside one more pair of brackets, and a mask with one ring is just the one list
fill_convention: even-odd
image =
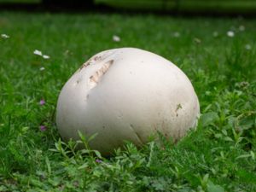
[(108, 69), (113, 65), (113, 60), (110, 60), (102, 65), (102, 67), (90, 76), (90, 89), (94, 88), (96, 84), (102, 79), (102, 76), (108, 72)]

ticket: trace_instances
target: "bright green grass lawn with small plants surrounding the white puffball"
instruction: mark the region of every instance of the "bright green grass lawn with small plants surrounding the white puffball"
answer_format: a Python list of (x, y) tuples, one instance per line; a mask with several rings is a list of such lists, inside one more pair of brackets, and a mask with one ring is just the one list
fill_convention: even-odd
[[(0, 38), (0, 191), (256, 191), (256, 20), (0, 15), (0, 33), (9, 35)], [(183, 69), (201, 102), (196, 131), (177, 145), (127, 143), (111, 158), (61, 143), (61, 86), (91, 55), (118, 47), (150, 50)]]

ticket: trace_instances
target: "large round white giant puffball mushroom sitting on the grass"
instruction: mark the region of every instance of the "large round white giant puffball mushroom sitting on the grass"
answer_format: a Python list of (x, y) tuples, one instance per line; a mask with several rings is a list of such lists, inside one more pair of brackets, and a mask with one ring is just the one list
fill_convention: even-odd
[(97, 134), (90, 148), (103, 155), (124, 141), (137, 146), (160, 132), (175, 141), (194, 128), (198, 98), (187, 76), (171, 61), (143, 49), (102, 51), (67, 81), (57, 103), (61, 137)]

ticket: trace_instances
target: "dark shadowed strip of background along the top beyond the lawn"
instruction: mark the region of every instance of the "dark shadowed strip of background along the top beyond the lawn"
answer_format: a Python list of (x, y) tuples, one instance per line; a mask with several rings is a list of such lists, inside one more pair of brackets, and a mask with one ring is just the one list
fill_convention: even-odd
[(256, 13), (256, 2), (254, 0), (1, 0), (0, 9), (253, 16)]

